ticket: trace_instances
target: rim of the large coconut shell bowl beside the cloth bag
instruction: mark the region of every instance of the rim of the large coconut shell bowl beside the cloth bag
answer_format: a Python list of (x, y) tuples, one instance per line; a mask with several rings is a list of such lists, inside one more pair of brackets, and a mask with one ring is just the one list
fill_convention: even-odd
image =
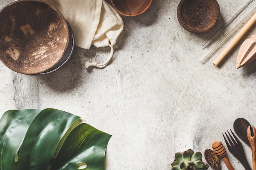
[[(5, 7), (3, 7), (3, 8), (0, 10), (0, 13), (1, 13), (4, 9), (6, 9), (7, 7), (10, 7), (11, 5), (16, 4), (16, 3), (20, 3), (20, 2), (41, 2), (41, 3), (47, 4), (50, 8), (52, 8), (54, 11), (56, 11), (56, 12), (58, 13), (58, 15), (60, 16), (60, 18), (62, 18), (63, 20), (65, 20), (65, 22), (63, 22), (63, 24), (65, 24), (65, 27), (67, 27), (67, 42), (66, 42), (66, 44), (65, 44), (65, 48), (63, 49), (63, 53), (62, 53), (61, 57), (59, 57), (59, 59), (54, 63), (54, 65), (56, 65), (56, 64), (61, 60), (61, 58), (63, 57), (63, 55), (65, 54), (65, 51), (67, 50), (67, 46), (69, 45), (69, 41), (70, 41), (70, 40), (69, 40), (69, 38), (70, 38), (70, 31), (69, 31), (69, 27), (68, 27), (68, 24), (67, 24), (67, 22), (66, 22), (65, 17), (64, 17), (63, 14), (61, 13), (61, 11), (59, 11), (56, 7), (54, 7), (52, 4), (49, 4), (48, 2), (45, 2), (45, 1), (43, 1), (43, 0), (16, 0), (16, 1), (14, 1), (14, 2), (11, 2), (11, 3), (7, 4)], [(5, 62), (3, 62), (2, 57), (0, 57), (0, 60), (1, 60), (1, 62), (2, 62), (4, 65), (6, 65)], [(54, 66), (54, 65), (53, 65), (53, 66)], [(7, 65), (6, 65), (6, 66), (7, 66)], [(37, 72), (35, 71), (35, 72), (33, 72), (33, 73), (30, 72), (30, 71), (26, 71), (26, 70), (20, 71), (19, 69), (13, 69), (13, 68), (10, 68), (9, 66), (7, 66), (7, 67), (10, 68), (12, 71), (15, 71), (15, 72), (17, 72), (17, 73), (26, 74), (26, 75), (36, 75), (36, 74), (43, 73), (43, 72), (49, 70), (49, 69), (52, 68), (53, 66), (49, 66), (48, 68), (45, 68), (44, 71), (37, 71)]]

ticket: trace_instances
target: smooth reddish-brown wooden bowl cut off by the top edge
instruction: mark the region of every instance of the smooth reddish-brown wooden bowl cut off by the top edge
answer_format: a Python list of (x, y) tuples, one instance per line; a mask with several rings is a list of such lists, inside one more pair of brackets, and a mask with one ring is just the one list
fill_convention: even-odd
[(137, 16), (144, 13), (153, 0), (111, 0), (114, 9), (124, 16)]

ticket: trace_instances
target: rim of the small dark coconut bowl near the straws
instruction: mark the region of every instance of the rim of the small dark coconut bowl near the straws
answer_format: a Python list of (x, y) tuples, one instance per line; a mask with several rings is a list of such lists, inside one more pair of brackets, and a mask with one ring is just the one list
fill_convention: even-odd
[[(216, 4), (217, 4), (217, 8), (216, 8), (216, 9), (217, 9), (218, 15), (217, 15), (217, 17), (216, 17), (216, 21), (215, 21), (215, 23), (214, 23), (210, 28), (204, 29), (204, 30), (191, 29), (192, 26), (187, 26), (186, 24), (184, 24), (184, 22), (182, 22), (182, 21), (183, 21), (183, 18), (182, 18), (182, 16), (181, 16), (181, 8), (182, 8), (182, 5), (184, 4), (185, 1), (186, 1), (186, 0), (181, 0), (180, 3), (178, 4), (178, 7), (177, 7), (177, 19), (178, 19), (180, 25), (181, 25), (186, 31), (189, 31), (189, 32), (191, 32), (191, 33), (203, 34), (203, 33), (207, 33), (207, 32), (209, 32), (209, 31), (211, 31), (211, 30), (216, 26), (216, 24), (217, 24), (218, 21), (220, 20), (220, 15), (221, 15), (221, 13), (220, 13), (220, 5), (219, 5), (219, 3), (218, 3), (217, 0), (212, 0), (212, 1), (216, 2)], [(193, 27), (193, 28), (194, 28), (194, 27)]]

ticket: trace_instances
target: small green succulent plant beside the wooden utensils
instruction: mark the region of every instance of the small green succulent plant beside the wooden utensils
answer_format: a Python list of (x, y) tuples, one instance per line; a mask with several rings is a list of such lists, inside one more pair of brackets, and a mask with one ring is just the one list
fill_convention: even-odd
[(202, 161), (201, 152), (194, 152), (191, 149), (183, 153), (175, 153), (175, 160), (171, 166), (171, 170), (207, 170), (209, 168), (209, 165)]

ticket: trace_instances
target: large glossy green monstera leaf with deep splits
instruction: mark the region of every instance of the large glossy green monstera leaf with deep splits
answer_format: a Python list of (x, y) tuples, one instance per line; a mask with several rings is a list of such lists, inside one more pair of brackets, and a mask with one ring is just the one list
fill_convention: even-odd
[(0, 170), (104, 170), (110, 137), (62, 110), (9, 110), (0, 119)]

